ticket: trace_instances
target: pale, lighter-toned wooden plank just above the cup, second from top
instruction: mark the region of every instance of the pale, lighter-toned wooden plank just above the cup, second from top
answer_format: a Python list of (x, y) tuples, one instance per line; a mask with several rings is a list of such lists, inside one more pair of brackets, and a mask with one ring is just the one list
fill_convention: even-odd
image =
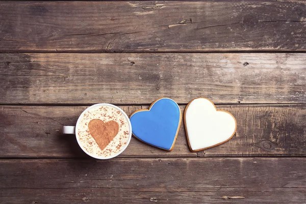
[(0, 104), (305, 103), (306, 54), (1, 54)]

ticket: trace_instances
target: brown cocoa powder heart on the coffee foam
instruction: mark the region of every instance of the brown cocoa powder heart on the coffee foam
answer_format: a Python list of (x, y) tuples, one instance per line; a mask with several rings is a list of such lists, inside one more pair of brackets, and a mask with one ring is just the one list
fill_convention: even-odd
[(92, 119), (88, 123), (90, 135), (103, 150), (113, 139), (119, 131), (119, 124), (114, 121), (103, 122), (100, 119)]

